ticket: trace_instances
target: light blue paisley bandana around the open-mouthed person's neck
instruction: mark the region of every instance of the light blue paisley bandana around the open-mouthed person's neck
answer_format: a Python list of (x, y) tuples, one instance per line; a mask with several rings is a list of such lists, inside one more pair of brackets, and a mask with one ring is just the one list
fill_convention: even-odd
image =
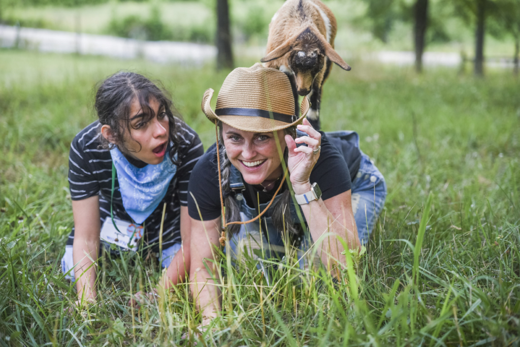
[[(168, 149), (170, 149), (169, 146), (166, 148), (166, 155), (160, 164), (148, 164), (144, 168), (136, 168), (129, 163), (117, 147), (110, 150), (112, 162), (118, 174), (123, 207), (137, 224), (144, 222), (159, 206), (177, 171), (177, 166), (170, 160)], [(175, 159), (177, 159), (177, 153), (175, 153)]]

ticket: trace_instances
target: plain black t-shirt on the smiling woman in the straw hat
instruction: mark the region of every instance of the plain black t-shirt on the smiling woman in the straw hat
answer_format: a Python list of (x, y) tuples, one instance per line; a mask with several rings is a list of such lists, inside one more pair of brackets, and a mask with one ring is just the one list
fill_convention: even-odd
[[(352, 152), (350, 153), (352, 155), (349, 157), (353, 158), (349, 160), (349, 164), (353, 164), (354, 166), (357, 164), (357, 167), (352, 168), (355, 172), (351, 173), (344, 155), (330, 143), (328, 137), (323, 132), (320, 133), (320, 157), (313, 171), (310, 173), (310, 182), (318, 183), (322, 192), (321, 198), (327, 200), (350, 189), (350, 177), (351, 175), (355, 175), (359, 169), (358, 157), (360, 158), (360, 152), (359, 149), (354, 146), (349, 149), (349, 153)], [(272, 198), (279, 183), (276, 183), (276, 188), (269, 192), (263, 192), (262, 189), (258, 189), (256, 186), (250, 186), (245, 182), (244, 184), (246, 186), (244, 191), (246, 201), (248, 201), (249, 205), (253, 206), (254, 204), (251, 204), (253, 201), (253, 197), (251, 196), (252, 192), (254, 192), (255, 200), (257, 198), (256, 194), (258, 194), (260, 203), (264, 203)], [(216, 219), (222, 214), (220, 208), (220, 192), (218, 189), (216, 144), (213, 144), (207, 149), (204, 156), (193, 168), (188, 191), (190, 193), (188, 194), (188, 212), (193, 219), (201, 220), (202, 217), (202, 220), (209, 221)]]

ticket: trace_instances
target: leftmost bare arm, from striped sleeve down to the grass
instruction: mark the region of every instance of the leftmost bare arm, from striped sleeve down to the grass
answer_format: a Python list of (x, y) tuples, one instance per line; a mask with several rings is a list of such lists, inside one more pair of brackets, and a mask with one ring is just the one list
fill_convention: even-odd
[(93, 196), (83, 200), (72, 201), (74, 216), (74, 243), (72, 259), (74, 277), (80, 301), (96, 299), (96, 265), (99, 251), (99, 197)]

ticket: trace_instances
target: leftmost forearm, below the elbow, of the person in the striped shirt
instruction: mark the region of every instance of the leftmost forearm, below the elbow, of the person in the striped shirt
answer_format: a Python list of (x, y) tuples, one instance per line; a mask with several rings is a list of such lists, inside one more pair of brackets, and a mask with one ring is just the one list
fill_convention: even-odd
[(74, 264), (74, 277), (78, 298), (96, 299), (96, 265), (98, 258), (99, 238), (97, 240), (84, 240), (75, 238), (72, 246), (72, 259)]

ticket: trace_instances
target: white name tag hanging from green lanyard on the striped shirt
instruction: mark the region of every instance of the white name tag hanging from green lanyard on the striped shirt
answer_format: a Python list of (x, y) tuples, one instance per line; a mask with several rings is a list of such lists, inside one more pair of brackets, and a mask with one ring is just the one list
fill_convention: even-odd
[(114, 223), (118, 230), (114, 227), (112, 219), (108, 218), (101, 227), (99, 238), (103, 241), (113, 243), (123, 250), (137, 251), (137, 242), (142, 237), (144, 228), (142, 225), (124, 222), (114, 218)]

